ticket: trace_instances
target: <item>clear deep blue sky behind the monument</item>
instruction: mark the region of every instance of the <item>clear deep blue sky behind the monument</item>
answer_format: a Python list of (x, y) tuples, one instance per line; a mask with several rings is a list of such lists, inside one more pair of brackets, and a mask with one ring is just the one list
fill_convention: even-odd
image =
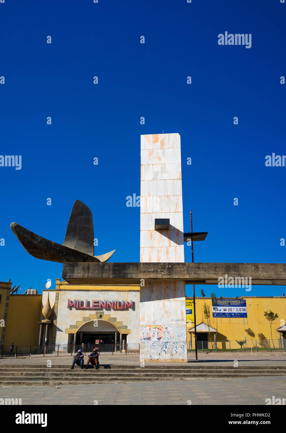
[[(28, 255), (10, 223), (62, 243), (76, 199), (93, 213), (95, 254), (138, 262), (140, 209), (126, 196), (140, 194), (140, 135), (163, 129), (181, 136), (184, 231), (192, 209), (194, 231), (209, 232), (195, 262), (285, 262), (286, 167), (265, 166), (286, 154), (285, 18), (280, 0), (0, 3), (0, 153), (22, 155), (21, 170), (0, 167), (0, 280), (55, 287), (62, 265)], [(225, 31), (251, 33), (251, 48), (218, 45)]]

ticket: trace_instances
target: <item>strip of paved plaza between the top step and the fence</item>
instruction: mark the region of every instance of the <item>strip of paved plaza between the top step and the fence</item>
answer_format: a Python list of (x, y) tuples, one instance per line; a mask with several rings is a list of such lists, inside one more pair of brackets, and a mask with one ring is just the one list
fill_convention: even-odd
[[(235, 353), (212, 353), (205, 355), (198, 355), (198, 361), (196, 362), (195, 355), (193, 353), (188, 355), (189, 365), (233, 365), (234, 360), (241, 362), (241, 365), (286, 365), (286, 353), (276, 352), (272, 355), (267, 353), (262, 354), (261, 352), (254, 352), (254, 355), (245, 354), (245, 352), (235, 352)], [(51, 360), (52, 365), (70, 365), (72, 363), (73, 357), (71, 355), (66, 356), (33, 356), (31, 359), (29, 357), (17, 357), (16, 359), (11, 356), (7, 358), (0, 359), (0, 366), (4, 364), (42, 364), (46, 365), (48, 360)], [(85, 362), (87, 361), (87, 356), (85, 357)], [(140, 365), (138, 354), (117, 354), (117, 355), (100, 355), (100, 364), (110, 364), (110, 365)], [(163, 363), (163, 362), (146, 362), (147, 365), (174, 365), (173, 362)], [(177, 364), (180, 365), (180, 364)], [(186, 365), (186, 364), (185, 364)]]

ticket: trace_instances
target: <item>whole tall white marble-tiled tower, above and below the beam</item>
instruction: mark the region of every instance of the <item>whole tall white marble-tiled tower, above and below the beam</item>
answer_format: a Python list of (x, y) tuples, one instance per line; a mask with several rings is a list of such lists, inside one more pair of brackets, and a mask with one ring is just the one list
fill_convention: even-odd
[[(140, 262), (150, 271), (154, 262), (184, 262), (180, 147), (179, 134), (141, 136)], [(184, 281), (144, 284), (140, 360), (187, 362)]]

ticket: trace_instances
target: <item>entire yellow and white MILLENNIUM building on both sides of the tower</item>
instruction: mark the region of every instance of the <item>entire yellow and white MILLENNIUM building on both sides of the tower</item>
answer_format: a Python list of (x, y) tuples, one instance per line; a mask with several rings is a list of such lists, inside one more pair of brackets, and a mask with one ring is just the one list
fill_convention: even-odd
[[(71, 285), (56, 279), (55, 289), (43, 290), (42, 294), (10, 295), (10, 288), (10, 282), (0, 282), (0, 337), (6, 355), (12, 343), (19, 354), (26, 353), (30, 346), (32, 352), (45, 345), (50, 350), (58, 346), (70, 350), (71, 345), (92, 346), (97, 341), (106, 347), (120, 342), (121, 349), (122, 343), (130, 349), (139, 346), (139, 285)], [(286, 348), (285, 296), (224, 299), (243, 300), (246, 317), (213, 317), (212, 299), (197, 297), (198, 349)], [(269, 310), (278, 314), (272, 323), (272, 336), (270, 322), (264, 317)], [(186, 321), (187, 347), (194, 350), (192, 297), (186, 297)]]

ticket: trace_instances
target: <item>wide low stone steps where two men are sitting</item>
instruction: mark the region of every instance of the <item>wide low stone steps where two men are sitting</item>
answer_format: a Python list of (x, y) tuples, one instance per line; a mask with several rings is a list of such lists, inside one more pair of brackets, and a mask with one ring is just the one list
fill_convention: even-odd
[(6, 385), (79, 385), (106, 382), (192, 380), (198, 378), (247, 378), (286, 376), (286, 366), (209, 366), (209, 365), (100, 365), (100, 368), (73, 370), (67, 365), (50, 368), (43, 365), (1, 365), (0, 386)]

